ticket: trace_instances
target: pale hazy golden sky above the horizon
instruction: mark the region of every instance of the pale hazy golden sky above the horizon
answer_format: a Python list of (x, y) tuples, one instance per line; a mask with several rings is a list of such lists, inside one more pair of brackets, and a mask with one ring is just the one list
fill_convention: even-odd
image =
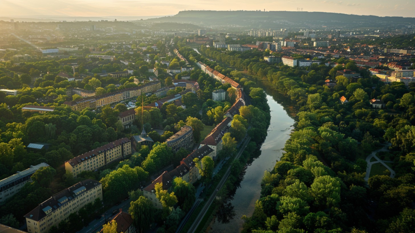
[(324, 11), (415, 17), (414, 0), (0, 0), (0, 16), (150, 16), (181, 10)]

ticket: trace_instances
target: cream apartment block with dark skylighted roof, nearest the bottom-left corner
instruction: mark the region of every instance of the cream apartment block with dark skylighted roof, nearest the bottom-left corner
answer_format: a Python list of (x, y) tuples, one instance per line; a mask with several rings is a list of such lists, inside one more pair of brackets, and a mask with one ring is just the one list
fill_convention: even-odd
[(87, 179), (66, 188), (24, 216), (27, 232), (48, 232), (52, 226), (58, 226), (61, 221), (67, 220), (71, 213), (76, 213), (97, 198), (103, 199), (102, 185), (98, 181)]

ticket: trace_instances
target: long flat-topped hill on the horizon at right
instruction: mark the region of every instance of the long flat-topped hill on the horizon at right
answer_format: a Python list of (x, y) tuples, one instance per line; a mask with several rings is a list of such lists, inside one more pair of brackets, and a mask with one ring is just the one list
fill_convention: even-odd
[(186, 22), (196, 25), (235, 25), (252, 28), (281, 27), (391, 27), (415, 24), (413, 17), (379, 17), (328, 12), (296, 11), (213, 11), (187, 10), (169, 17), (152, 18), (148, 22)]

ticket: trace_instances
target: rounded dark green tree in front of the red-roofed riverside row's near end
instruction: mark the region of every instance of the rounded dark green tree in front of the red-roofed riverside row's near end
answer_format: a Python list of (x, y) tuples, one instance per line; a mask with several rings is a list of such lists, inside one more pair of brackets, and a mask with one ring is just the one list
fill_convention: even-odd
[(184, 210), (189, 211), (196, 200), (196, 190), (193, 185), (183, 181), (181, 177), (173, 180), (173, 191), (176, 194), (178, 205)]

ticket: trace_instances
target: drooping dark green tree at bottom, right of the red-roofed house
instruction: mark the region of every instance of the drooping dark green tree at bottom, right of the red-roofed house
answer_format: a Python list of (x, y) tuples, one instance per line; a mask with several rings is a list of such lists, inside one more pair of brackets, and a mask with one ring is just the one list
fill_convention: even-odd
[(139, 233), (148, 230), (154, 221), (153, 203), (144, 196), (140, 196), (137, 201), (130, 203), (128, 212), (131, 214), (133, 224)]

